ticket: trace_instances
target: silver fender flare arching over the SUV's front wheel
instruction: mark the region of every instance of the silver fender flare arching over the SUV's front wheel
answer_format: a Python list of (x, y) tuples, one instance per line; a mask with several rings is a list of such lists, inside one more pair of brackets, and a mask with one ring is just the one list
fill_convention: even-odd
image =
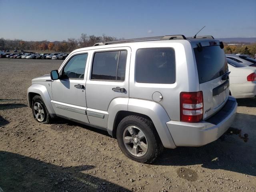
[[(28, 95), (28, 104), (30, 106), (30, 99), (29, 99), (29, 93), (36, 93), (39, 94), (43, 101), (44, 104), (48, 110), (48, 112), (50, 114), (55, 114), (54, 109), (52, 108), (52, 104), (51, 104), (51, 98), (50, 95), (48, 93), (48, 90), (46, 89), (46, 87), (44, 85), (40, 85), (40, 84), (32, 84), (27, 91), (27, 95)], [(30, 106), (31, 108), (32, 106)]]

